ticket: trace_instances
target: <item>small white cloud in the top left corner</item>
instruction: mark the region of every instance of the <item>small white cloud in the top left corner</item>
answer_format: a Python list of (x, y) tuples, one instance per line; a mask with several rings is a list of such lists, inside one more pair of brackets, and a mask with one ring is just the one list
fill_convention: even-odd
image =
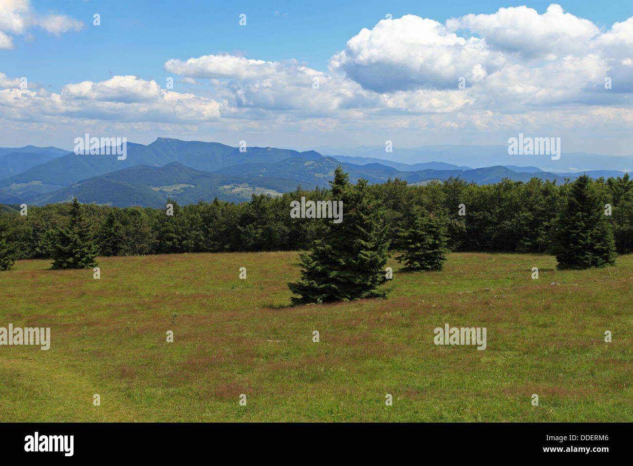
[(40, 15), (28, 0), (0, 0), (0, 49), (12, 49), (12, 35), (24, 34), (32, 26), (58, 35), (69, 30), (81, 30), (84, 22), (66, 15)]

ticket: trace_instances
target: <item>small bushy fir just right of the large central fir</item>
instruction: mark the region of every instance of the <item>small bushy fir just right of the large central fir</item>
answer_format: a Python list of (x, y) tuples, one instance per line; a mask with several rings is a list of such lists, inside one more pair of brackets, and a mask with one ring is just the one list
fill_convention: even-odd
[(441, 270), (449, 252), (447, 231), (446, 223), (438, 214), (410, 207), (397, 240), (404, 252), (396, 259), (404, 261), (405, 269), (410, 271)]

